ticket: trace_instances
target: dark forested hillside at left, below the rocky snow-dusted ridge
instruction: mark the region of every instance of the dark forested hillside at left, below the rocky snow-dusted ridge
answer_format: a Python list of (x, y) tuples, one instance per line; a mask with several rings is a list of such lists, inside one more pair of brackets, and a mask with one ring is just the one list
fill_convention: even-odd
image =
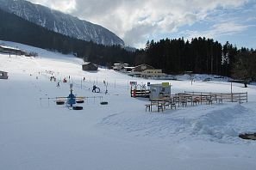
[(74, 39), (36, 25), (3, 9), (0, 9), (0, 39), (53, 52), (74, 54), (78, 58), (86, 58), (100, 65), (111, 65), (118, 61), (132, 64), (134, 61), (133, 53), (127, 52), (121, 46), (104, 46), (92, 41)]

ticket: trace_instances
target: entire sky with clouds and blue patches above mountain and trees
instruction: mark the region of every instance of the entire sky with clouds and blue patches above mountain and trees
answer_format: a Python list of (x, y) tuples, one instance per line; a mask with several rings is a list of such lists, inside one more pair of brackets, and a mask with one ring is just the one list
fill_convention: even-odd
[(213, 38), (256, 48), (256, 0), (29, 0), (108, 28), (127, 46)]

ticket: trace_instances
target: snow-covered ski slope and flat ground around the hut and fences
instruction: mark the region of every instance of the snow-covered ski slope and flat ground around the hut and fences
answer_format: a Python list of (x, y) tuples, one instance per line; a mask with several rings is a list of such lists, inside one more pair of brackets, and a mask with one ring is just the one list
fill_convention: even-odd
[[(1, 43), (2, 41), (0, 41)], [(156, 83), (114, 70), (86, 72), (83, 61), (57, 52), (5, 42), (38, 52), (36, 58), (0, 53), (0, 169), (8, 170), (253, 170), (256, 142), (238, 137), (256, 132), (256, 87), (233, 83), (233, 92), (248, 92), (248, 102), (177, 107), (145, 112), (148, 99), (131, 98), (128, 82)], [(50, 82), (50, 76), (57, 77)], [(70, 76), (70, 80), (68, 79)], [(84, 110), (57, 106), (69, 94), (88, 98)], [(83, 80), (85, 77), (85, 81)], [(164, 81), (172, 94), (187, 91), (230, 92), (230, 82)], [(91, 92), (94, 84), (109, 94)], [(56, 87), (60, 82), (60, 87)], [(43, 99), (41, 99), (43, 98)]]

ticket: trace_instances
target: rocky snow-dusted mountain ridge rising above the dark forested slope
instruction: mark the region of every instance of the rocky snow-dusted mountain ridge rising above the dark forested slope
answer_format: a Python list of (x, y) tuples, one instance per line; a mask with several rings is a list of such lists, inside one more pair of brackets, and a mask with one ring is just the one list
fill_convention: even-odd
[(124, 46), (122, 39), (102, 26), (28, 1), (0, 0), (0, 9), (75, 39), (93, 41), (105, 46)]

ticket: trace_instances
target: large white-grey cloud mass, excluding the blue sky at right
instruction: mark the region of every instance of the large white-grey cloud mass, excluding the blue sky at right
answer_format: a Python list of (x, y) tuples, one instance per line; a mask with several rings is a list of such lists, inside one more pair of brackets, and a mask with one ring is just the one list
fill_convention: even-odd
[[(175, 33), (179, 27), (207, 18), (214, 9), (238, 8), (249, 0), (30, 0), (91, 21), (116, 33), (131, 46), (156, 33)], [(228, 27), (216, 25), (214, 30)], [(233, 29), (245, 29), (234, 25)], [(202, 35), (201, 35), (202, 36)]]

